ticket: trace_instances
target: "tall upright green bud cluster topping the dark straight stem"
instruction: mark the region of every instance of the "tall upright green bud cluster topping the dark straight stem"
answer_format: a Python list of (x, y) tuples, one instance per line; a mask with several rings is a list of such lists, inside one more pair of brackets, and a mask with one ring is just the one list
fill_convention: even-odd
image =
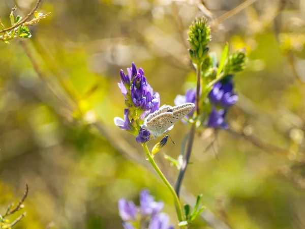
[(189, 38), (191, 48), (189, 53), (194, 64), (201, 64), (208, 52), (208, 42), (211, 40), (210, 28), (205, 19), (197, 17), (190, 26)]

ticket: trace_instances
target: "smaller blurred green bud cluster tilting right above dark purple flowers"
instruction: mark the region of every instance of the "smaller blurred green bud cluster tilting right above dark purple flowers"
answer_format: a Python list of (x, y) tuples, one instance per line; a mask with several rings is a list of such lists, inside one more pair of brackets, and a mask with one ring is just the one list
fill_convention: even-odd
[(246, 66), (246, 49), (238, 49), (234, 51), (227, 59), (224, 66), (225, 75), (235, 74), (245, 69)]

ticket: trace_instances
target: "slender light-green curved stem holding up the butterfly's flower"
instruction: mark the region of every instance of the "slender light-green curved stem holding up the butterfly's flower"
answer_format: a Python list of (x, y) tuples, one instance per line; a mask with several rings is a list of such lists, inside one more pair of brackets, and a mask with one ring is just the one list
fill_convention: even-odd
[(157, 172), (157, 174), (159, 175), (159, 177), (161, 178), (163, 183), (166, 185), (166, 187), (169, 189), (169, 191), (171, 192), (172, 196), (174, 197), (174, 202), (175, 202), (175, 206), (176, 206), (176, 211), (177, 211), (177, 216), (178, 216), (179, 222), (184, 221), (184, 216), (182, 214), (182, 207), (181, 207), (179, 198), (178, 198), (174, 188), (170, 185), (170, 183), (168, 182), (168, 180), (166, 179), (166, 177), (164, 176), (164, 174), (162, 173), (162, 171), (160, 170), (160, 168), (156, 164), (153, 155), (151, 155), (151, 153), (148, 150), (147, 144), (143, 143), (142, 147), (143, 147), (144, 152), (145, 152), (145, 154), (146, 154), (146, 156), (148, 158), (148, 161), (150, 162), (151, 165), (153, 165), (155, 171)]

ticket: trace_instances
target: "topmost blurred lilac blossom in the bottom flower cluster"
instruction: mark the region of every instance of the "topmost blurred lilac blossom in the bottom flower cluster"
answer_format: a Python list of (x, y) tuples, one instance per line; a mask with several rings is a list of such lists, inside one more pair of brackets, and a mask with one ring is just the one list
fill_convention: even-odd
[(154, 196), (150, 195), (147, 189), (143, 189), (140, 192), (140, 207), (142, 215), (155, 215), (163, 209), (164, 203), (156, 202)]

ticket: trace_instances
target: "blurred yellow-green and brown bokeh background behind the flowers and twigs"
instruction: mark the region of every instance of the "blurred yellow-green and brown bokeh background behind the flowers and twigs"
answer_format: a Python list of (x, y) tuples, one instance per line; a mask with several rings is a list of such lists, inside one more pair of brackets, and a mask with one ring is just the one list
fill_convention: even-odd
[[(124, 113), (119, 70), (132, 62), (161, 104), (193, 85), (186, 39), (198, 15), (212, 26), (210, 51), (220, 56), (229, 42), (246, 47), (249, 62), (234, 77), (230, 131), (197, 133), (182, 197), (202, 193), (213, 215), (192, 228), (223, 228), (216, 219), (240, 229), (305, 228), (305, 1), (258, 0), (217, 20), (242, 2), (45, 0), (40, 12), (51, 14), (29, 28), (31, 39), (0, 43), (1, 213), (29, 186), (27, 216), (15, 228), (121, 228), (117, 199), (138, 203), (142, 188), (176, 222), (170, 193), (113, 118)], [(34, 4), (0, 1), (3, 23), (14, 5), (25, 16)], [(171, 182), (177, 170), (163, 153), (176, 158), (188, 130), (175, 125), (176, 145), (156, 155)]]

